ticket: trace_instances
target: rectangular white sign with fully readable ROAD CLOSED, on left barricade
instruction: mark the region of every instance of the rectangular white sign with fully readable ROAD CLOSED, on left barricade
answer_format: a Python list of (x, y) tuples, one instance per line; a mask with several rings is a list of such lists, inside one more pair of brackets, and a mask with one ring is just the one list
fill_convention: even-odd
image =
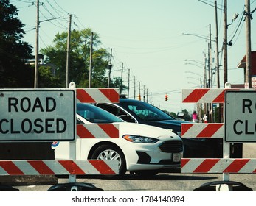
[(75, 140), (74, 90), (0, 90), (0, 141)]

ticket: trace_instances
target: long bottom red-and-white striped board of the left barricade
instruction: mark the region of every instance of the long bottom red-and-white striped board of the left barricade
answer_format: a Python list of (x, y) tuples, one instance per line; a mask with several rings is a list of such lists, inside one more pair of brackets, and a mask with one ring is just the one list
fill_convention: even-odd
[(117, 160), (0, 160), (0, 175), (118, 174)]

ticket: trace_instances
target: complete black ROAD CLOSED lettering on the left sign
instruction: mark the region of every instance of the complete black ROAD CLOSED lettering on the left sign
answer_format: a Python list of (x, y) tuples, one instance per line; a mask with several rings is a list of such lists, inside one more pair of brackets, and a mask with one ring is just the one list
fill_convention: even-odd
[[(8, 97), (5, 110), (9, 115), (0, 118), (0, 134), (63, 133), (67, 128), (66, 120), (51, 116), (57, 106), (53, 97), (35, 99)], [(16, 116), (18, 118), (13, 118)]]

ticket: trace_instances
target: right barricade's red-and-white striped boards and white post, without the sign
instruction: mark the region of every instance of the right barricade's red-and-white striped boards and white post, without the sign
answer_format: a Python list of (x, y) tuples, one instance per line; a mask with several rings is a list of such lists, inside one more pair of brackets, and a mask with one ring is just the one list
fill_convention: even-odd
[[(182, 90), (183, 103), (224, 103), (226, 90), (232, 89), (226, 83), (224, 89), (184, 89)], [(251, 89), (255, 90), (255, 89)], [(224, 108), (225, 110), (225, 108)], [(182, 138), (225, 138), (224, 123), (184, 123), (181, 124)], [(229, 158), (230, 143), (224, 141), (224, 157), (218, 158), (182, 158), (181, 173), (219, 173), (223, 174), (223, 182), (229, 181), (230, 173), (256, 173), (256, 159)], [(232, 188), (228, 187), (231, 191)]]

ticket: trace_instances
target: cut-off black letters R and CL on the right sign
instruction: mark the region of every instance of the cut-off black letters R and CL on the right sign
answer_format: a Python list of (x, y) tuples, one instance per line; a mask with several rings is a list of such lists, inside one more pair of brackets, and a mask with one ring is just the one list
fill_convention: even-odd
[(256, 113), (256, 102), (251, 99), (242, 99), (241, 113), (248, 116), (248, 119), (237, 119), (234, 121), (233, 130), (236, 135), (254, 135), (256, 134), (255, 119), (250, 119)]

